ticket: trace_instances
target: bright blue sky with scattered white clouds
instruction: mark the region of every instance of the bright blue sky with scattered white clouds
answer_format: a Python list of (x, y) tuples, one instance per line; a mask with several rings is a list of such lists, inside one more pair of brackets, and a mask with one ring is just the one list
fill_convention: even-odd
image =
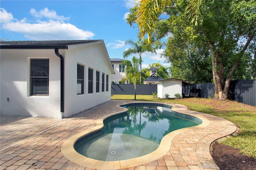
[[(104, 40), (110, 58), (123, 59), (124, 50), (131, 47), (125, 41), (138, 40), (138, 29), (125, 20), (132, 7), (133, 0), (1, 0), (0, 38)], [(168, 67), (160, 57), (162, 51), (144, 53), (142, 68), (158, 61)]]

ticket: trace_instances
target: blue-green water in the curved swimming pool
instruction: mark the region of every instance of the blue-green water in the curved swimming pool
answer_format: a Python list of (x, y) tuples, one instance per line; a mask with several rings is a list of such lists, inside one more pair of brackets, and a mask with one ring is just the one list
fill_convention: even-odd
[(202, 123), (196, 117), (172, 111), (169, 105), (133, 103), (124, 107), (127, 112), (106, 119), (104, 128), (78, 140), (75, 150), (103, 161), (136, 158), (156, 150), (166, 134)]

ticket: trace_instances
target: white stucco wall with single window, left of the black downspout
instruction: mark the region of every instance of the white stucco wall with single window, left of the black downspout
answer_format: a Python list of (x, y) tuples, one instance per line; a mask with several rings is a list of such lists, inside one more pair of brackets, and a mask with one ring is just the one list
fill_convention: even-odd
[[(49, 96), (30, 96), (30, 58), (49, 58)], [(60, 58), (54, 49), (1, 49), (0, 60), (1, 115), (60, 118)]]

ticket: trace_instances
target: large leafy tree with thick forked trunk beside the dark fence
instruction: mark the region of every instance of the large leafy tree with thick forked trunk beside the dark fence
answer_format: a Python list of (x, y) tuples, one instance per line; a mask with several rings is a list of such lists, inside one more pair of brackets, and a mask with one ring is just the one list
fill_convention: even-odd
[[(234, 71), (246, 60), (248, 46), (255, 43), (256, 1), (141, 0), (133, 11), (128, 22), (136, 22), (140, 38), (148, 34), (149, 43), (174, 36), (172, 28), (183, 20), (185, 30), (190, 31), (190, 47), (195, 47), (191, 41), (197, 42), (210, 52), (215, 98), (226, 100)], [(168, 18), (163, 19), (166, 14)]]

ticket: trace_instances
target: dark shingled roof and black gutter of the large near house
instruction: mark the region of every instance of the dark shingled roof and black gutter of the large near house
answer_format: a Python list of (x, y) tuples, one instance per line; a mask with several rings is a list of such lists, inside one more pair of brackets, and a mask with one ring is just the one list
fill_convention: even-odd
[(1, 49), (68, 49), (68, 45), (100, 42), (103, 40), (1, 41)]

